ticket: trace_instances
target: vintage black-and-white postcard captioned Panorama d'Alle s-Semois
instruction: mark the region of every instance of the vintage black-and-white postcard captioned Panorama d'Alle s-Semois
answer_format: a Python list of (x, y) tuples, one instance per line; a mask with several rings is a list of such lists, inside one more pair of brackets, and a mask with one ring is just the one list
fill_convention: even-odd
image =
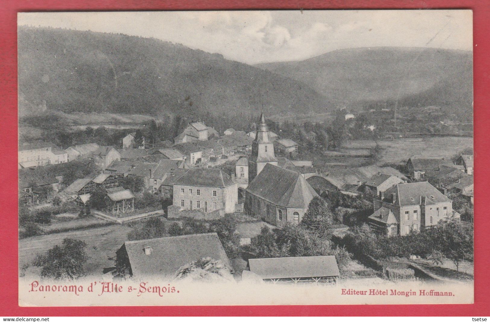
[(473, 303), (471, 10), (18, 14), (19, 305)]

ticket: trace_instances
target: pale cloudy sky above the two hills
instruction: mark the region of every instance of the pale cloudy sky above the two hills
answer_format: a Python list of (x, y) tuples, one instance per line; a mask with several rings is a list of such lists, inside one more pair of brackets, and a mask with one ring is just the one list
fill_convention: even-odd
[(473, 46), (471, 10), (43, 12), (19, 13), (18, 24), (153, 37), (246, 64), (352, 47)]

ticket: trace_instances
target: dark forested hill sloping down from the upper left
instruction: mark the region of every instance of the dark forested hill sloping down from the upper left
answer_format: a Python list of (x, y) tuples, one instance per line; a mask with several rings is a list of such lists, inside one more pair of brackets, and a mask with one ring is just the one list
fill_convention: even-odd
[(290, 78), (180, 44), (19, 27), (19, 109), (127, 114), (296, 115), (334, 109)]

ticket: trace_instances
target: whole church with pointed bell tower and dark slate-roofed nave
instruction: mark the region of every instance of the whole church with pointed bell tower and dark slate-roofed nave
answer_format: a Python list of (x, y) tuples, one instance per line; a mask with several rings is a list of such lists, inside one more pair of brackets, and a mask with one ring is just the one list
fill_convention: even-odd
[(318, 196), (300, 173), (278, 166), (264, 112), (248, 160), (248, 180), (245, 213), (279, 227), (299, 224), (310, 201)]

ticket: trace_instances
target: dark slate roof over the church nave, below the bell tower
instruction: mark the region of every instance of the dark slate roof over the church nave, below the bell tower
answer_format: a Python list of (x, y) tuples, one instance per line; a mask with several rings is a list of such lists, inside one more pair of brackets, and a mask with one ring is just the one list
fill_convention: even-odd
[(298, 172), (270, 163), (248, 184), (246, 191), (274, 205), (295, 208), (307, 208), (318, 196)]

